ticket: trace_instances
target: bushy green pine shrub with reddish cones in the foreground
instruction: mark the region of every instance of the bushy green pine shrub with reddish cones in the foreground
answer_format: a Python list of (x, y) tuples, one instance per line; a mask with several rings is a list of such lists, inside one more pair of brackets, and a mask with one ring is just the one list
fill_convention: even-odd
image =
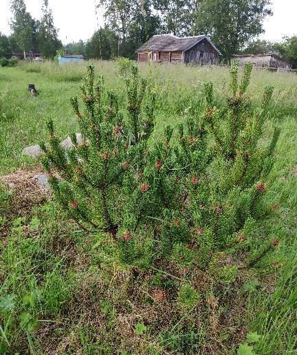
[[(248, 259), (254, 227), (273, 209), (265, 194), (280, 131), (267, 147), (259, 144), (273, 87), (265, 87), (254, 108), (246, 94), (251, 72), (252, 64), (245, 65), (239, 82), (232, 62), (224, 103), (217, 105), (206, 83), (204, 111), (153, 138), (155, 94), (137, 67), (126, 79), (121, 110), (102, 76), (95, 85), (89, 66), (84, 111), (72, 98), (82, 141), (72, 134), (74, 147), (64, 150), (50, 121), (50, 143), (41, 144), (56, 200), (81, 228), (109, 233), (122, 263), (149, 267), (186, 255), (187, 264), (217, 270), (222, 255), (244, 250), (246, 266), (254, 266), (276, 245), (266, 241)], [(222, 266), (218, 275), (228, 283), (236, 267)]]

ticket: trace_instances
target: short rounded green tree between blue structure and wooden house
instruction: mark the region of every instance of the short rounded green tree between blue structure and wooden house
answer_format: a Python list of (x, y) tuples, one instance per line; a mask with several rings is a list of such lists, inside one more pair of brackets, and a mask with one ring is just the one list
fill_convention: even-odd
[(85, 45), (86, 58), (110, 59), (118, 52), (118, 38), (108, 27), (100, 28)]

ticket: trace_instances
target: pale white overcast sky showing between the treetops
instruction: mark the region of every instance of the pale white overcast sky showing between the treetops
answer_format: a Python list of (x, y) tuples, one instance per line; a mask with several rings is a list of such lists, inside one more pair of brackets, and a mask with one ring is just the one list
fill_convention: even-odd
[[(36, 19), (41, 17), (41, 2), (25, 0), (27, 10)], [(104, 25), (102, 11), (96, 15), (96, 3), (98, 0), (49, 0), (63, 43), (79, 39), (85, 41), (100, 25)], [(261, 39), (280, 41), (283, 36), (297, 34), (297, 0), (272, 0), (272, 10), (274, 15), (266, 19), (265, 34)], [(0, 32), (10, 33), (10, 17), (10, 0), (0, 0)]]

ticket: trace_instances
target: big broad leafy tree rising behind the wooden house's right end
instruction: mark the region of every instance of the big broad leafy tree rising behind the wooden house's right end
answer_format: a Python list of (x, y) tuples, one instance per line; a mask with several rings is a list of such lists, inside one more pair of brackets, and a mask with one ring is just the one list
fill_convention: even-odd
[(201, 0), (195, 32), (210, 36), (230, 60), (254, 36), (263, 33), (263, 20), (270, 16), (270, 0)]

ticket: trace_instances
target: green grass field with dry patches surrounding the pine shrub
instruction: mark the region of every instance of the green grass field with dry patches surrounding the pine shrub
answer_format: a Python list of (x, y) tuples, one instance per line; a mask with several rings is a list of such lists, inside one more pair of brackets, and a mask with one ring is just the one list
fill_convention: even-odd
[[(281, 240), (276, 259), (223, 293), (208, 284), (208, 303), (183, 310), (154, 301), (160, 279), (174, 283), (170, 275), (140, 282), (106, 259), (100, 235), (83, 233), (32, 184), (41, 166), (21, 152), (47, 138), (50, 118), (62, 138), (78, 130), (69, 98), (79, 94), (85, 65), (21, 64), (0, 67), (0, 175), (10, 183), (0, 189), (0, 354), (297, 354), (297, 76), (254, 70), (249, 90), (256, 105), (265, 84), (275, 85), (265, 137), (281, 127), (269, 196), (281, 203), (261, 228)], [(125, 107), (119, 65), (95, 65)], [(205, 80), (218, 101), (228, 91), (227, 67), (140, 72), (157, 93), (156, 134), (201, 110)], [(29, 83), (39, 96), (30, 96)], [(184, 279), (197, 277), (187, 272), (181, 267)]]

